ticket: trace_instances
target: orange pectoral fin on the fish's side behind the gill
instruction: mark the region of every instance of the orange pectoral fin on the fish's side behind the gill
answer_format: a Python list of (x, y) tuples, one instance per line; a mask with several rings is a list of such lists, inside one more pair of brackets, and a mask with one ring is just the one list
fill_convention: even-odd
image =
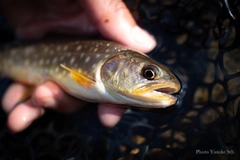
[(79, 83), (80, 85), (84, 86), (85, 88), (90, 88), (93, 84), (95, 84), (95, 81), (91, 79), (87, 74), (81, 72), (81, 71), (76, 71), (71, 68), (68, 68), (67, 66), (60, 64), (60, 66), (67, 71), (71, 72), (72, 78)]

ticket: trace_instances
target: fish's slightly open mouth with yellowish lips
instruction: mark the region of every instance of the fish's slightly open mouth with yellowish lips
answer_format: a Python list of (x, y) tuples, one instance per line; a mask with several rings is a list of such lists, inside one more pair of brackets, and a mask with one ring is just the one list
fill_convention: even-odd
[(176, 103), (177, 97), (173, 94), (179, 92), (180, 89), (179, 83), (161, 82), (141, 86), (135, 89), (133, 94), (145, 102), (152, 103), (153, 106), (158, 106), (157, 108), (165, 108)]

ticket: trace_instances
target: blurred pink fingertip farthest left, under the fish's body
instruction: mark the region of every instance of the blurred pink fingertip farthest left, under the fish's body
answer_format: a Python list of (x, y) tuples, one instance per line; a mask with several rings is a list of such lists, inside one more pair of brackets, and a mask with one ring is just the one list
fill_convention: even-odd
[(2, 100), (2, 106), (5, 112), (9, 113), (13, 107), (22, 100), (27, 87), (20, 83), (13, 83), (5, 92)]

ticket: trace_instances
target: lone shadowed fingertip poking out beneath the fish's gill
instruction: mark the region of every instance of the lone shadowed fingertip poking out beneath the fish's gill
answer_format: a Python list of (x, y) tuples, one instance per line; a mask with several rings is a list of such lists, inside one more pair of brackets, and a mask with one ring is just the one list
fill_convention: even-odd
[(104, 126), (113, 127), (120, 121), (125, 110), (126, 106), (100, 103), (98, 107), (98, 116)]

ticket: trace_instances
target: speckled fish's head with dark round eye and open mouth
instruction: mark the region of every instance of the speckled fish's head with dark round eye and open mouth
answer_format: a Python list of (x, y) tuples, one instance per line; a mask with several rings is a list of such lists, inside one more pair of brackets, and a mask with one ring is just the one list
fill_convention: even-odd
[(164, 65), (131, 50), (109, 58), (101, 68), (101, 79), (109, 95), (127, 105), (165, 108), (174, 105), (181, 85)]

